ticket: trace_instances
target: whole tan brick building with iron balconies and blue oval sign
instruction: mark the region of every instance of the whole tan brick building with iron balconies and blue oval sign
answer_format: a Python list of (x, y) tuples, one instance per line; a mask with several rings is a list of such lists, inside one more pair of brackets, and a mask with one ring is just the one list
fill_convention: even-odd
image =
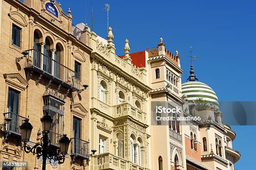
[(29, 119), (33, 146), (40, 141), (40, 117), (47, 112), (54, 120), (50, 145), (59, 148), (63, 134), (71, 139), (65, 162), (47, 161), (47, 169), (85, 168), (89, 35), (72, 26), (71, 11), (65, 14), (55, 0), (0, 0), (0, 161), (26, 161), (27, 169), (41, 169), (41, 158), (21, 148), (19, 126)]

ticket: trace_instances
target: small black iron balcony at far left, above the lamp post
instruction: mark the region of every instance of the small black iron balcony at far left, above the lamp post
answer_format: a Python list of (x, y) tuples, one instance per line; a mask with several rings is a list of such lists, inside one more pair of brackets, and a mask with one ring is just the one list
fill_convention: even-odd
[(20, 136), (20, 125), (27, 119), (13, 112), (4, 113), (5, 123), (3, 132)]

